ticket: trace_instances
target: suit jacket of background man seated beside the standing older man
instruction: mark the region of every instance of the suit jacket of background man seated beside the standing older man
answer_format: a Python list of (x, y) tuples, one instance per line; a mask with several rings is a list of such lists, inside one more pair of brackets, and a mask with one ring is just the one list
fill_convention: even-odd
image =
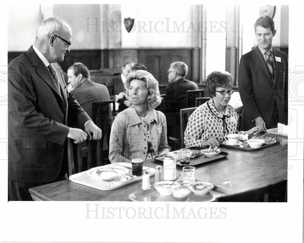
[(88, 78), (83, 80), (78, 88), (72, 90), (71, 94), (90, 117), (92, 117), (92, 102), (110, 100), (107, 87)]

